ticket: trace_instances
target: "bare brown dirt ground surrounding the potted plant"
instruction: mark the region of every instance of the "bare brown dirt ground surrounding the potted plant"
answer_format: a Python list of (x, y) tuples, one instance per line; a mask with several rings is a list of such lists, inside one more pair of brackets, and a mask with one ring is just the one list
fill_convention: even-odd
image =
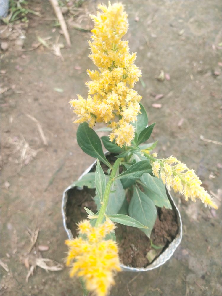
[[(65, 15), (71, 48), (54, 26), (49, 1), (28, 3), (42, 17), (29, 14), (28, 25), (0, 26), (1, 41), (8, 45), (0, 50), (0, 295), (77, 296), (81, 286), (69, 278), (65, 267), (47, 273), (37, 266), (28, 283), (25, 279), (36, 262), (42, 266), (41, 258), (64, 264), (62, 192), (92, 162), (77, 145), (68, 102), (77, 93), (87, 94), (86, 69), (94, 69), (87, 57), (90, 33), (75, 27), (92, 28), (89, 13), (95, 13), (99, 2), (86, 0), (75, 17)], [(174, 155), (196, 170), (219, 209), (176, 198), (183, 239), (173, 258), (146, 273), (120, 273), (110, 295), (219, 296), (222, 4), (219, 0), (123, 3), (129, 15), (130, 50), (137, 52), (136, 65), (143, 74), (136, 90), (143, 96), (149, 123), (157, 122), (156, 151), (161, 157)], [(38, 46), (38, 37), (51, 37), (45, 41), (49, 48)], [(167, 74), (164, 81), (155, 78), (161, 70)], [(163, 98), (158, 99), (159, 94)]]

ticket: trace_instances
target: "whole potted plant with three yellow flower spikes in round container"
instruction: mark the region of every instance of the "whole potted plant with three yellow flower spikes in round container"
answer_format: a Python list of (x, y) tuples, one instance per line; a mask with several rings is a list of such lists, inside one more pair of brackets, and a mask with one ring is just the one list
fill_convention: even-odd
[[(87, 70), (91, 78), (86, 82), (87, 99), (78, 95), (78, 99), (70, 101), (78, 115), (75, 121), (79, 124), (77, 142), (96, 161), (65, 190), (62, 213), (69, 236), (66, 244), (69, 246), (70, 276), (80, 277), (84, 295), (92, 291), (104, 296), (114, 283), (116, 272), (156, 268), (170, 258), (180, 243), (181, 218), (169, 194), (171, 188), (185, 200), (200, 199), (205, 205), (217, 206), (193, 170), (176, 157), (158, 158), (157, 153), (152, 152), (157, 142), (146, 143), (155, 123), (148, 125), (141, 96), (133, 89), (141, 72), (134, 65), (136, 54), (130, 54), (128, 41), (121, 39), (128, 30), (127, 14), (120, 3), (109, 3), (108, 7), (99, 5), (99, 9), (101, 12), (91, 16), (95, 27), (92, 42), (89, 41), (89, 57), (98, 70)], [(92, 129), (97, 122), (107, 125), (103, 130), (108, 131), (109, 136), (99, 138)], [(104, 154), (101, 141), (111, 155)], [(96, 207), (89, 202), (85, 204), (90, 205), (84, 207), (88, 219), (78, 223), (78, 237), (73, 239), (70, 227), (67, 227), (70, 222), (66, 217), (68, 208), (78, 195), (80, 202), (75, 212), (78, 213), (87, 194)], [(170, 215), (174, 221), (170, 220)], [(167, 242), (163, 240), (163, 244), (156, 243), (152, 237), (153, 232), (162, 229), (161, 219), (171, 221), (165, 223), (167, 227), (176, 223), (174, 234), (170, 233), (171, 238)], [(120, 231), (115, 223), (120, 225)], [(143, 252), (147, 261), (139, 263), (140, 266), (135, 266), (135, 262), (131, 262), (131, 266), (120, 263), (121, 247), (127, 253), (127, 243), (133, 239), (128, 229), (136, 229), (135, 244), (139, 240), (145, 246)], [(149, 243), (148, 249), (144, 242)], [(130, 244), (131, 249), (137, 249), (135, 244)]]

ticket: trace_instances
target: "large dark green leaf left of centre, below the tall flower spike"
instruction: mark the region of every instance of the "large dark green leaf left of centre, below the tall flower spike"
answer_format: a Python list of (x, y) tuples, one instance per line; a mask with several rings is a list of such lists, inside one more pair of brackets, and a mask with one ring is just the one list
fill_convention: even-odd
[(111, 164), (106, 159), (102, 144), (96, 132), (88, 126), (86, 122), (81, 123), (77, 130), (77, 142), (79, 147), (88, 155), (98, 158), (105, 165), (111, 168)]

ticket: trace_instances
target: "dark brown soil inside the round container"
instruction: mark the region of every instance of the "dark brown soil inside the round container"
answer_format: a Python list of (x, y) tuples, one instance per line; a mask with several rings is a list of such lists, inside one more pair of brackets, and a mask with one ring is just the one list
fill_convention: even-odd
[[(108, 160), (112, 163), (115, 160), (113, 155), (109, 155)], [(102, 164), (101, 164), (102, 165)], [(103, 167), (103, 165), (102, 165)], [(104, 166), (104, 171), (106, 168)], [(91, 171), (94, 171), (95, 167)], [(93, 200), (95, 189), (84, 187), (83, 190), (77, 188), (70, 189), (67, 192), (67, 227), (71, 230), (73, 237), (77, 235), (76, 223), (87, 217), (84, 207), (96, 213), (96, 204)], [(152, 243), (155, 246), (163, 246), (156, 250), (156, 256), (159, 256), (178, 233), (176, 214), (173, 210), (157, 208), (157, 220), (151, 234)], [(146, 267), (152, 263), (147, 258), (147, 253), (152, 249), (150, 239), (139, 229), (117, 224), (115, 231), (117, 242), (120, 247), (121, 262), (133, 267)]]

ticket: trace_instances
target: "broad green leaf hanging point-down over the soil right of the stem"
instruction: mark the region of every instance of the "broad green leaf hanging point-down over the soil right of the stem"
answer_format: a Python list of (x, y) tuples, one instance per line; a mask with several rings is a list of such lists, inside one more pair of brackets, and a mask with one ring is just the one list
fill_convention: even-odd
[(151, 235), (157, 218), (157, 209), (152, 202), (137, 186), (134, 186), (133, 197), (129, 204), (129, 215), (148, 229), (140, 228), (148, 237)]

